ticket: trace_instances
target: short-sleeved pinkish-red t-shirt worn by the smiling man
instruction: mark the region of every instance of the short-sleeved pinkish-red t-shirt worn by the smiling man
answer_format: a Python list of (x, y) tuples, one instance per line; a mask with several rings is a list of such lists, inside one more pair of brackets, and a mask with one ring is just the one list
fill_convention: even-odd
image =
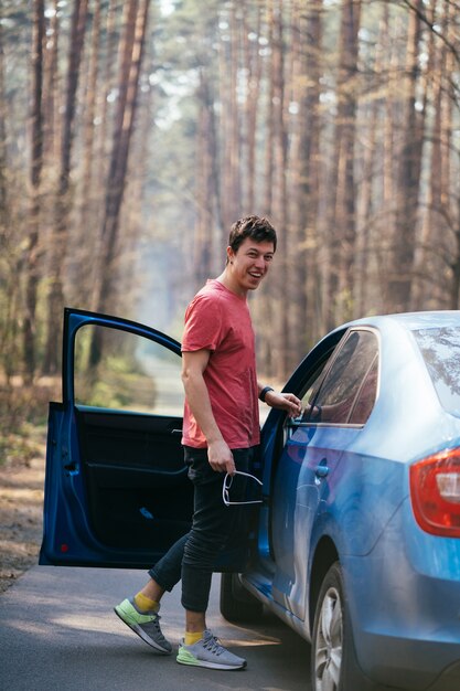
[[(214, 418), (231, 448), (259, 443), (254, 330), (246, 298), (207, 280), (185, 312), (182, 352), (210, 350), (204, 381)], [(206, 439), (185, 400), (182, 444), (205, 448)]]

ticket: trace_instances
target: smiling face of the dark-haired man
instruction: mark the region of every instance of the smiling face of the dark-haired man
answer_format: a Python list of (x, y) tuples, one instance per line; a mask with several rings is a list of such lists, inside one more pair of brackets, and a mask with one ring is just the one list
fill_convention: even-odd
[(274, 258), (275, 247), (271, 242), (256, 243), (246, 237), (236, 253), (227, 247), (231, 274), (238, 291), (255, 290), (267, 274)]

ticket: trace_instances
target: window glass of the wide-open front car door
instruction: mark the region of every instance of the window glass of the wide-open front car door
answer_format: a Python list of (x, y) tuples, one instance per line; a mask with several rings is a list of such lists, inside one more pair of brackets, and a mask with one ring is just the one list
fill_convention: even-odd
[(75, 403), (181, 416), (181, 364), (179, 355), (147, 338), (85, 325), (75, 337)]

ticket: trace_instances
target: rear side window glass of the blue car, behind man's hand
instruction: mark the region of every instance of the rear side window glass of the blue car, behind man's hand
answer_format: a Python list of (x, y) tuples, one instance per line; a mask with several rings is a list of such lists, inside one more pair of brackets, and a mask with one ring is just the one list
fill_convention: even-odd
[[(320, 410), (318, 422), (334, 424), (349, 422), (360, 392), (363, 392), (363, 396), (365, 394), (365, 378), (371, 373), (377, 353), (378, 342), (373, 332), (363, 330), (349, 333), (321, 384), (317, 398), (313, 401), (313, 415), (315, 410)], [(372, 379), (370, 380), (370, 389), (371, 391), (367, 393), (373, 403), (376, 387), (372, 391)], [(361, 417), (357, 419), (357, 424), (363, 424), (364, 408), (363, 398), (363, 405), (356, 408), (356, 417)], [(370, 410), (367, 410), (367, 416), (368, 413)]]

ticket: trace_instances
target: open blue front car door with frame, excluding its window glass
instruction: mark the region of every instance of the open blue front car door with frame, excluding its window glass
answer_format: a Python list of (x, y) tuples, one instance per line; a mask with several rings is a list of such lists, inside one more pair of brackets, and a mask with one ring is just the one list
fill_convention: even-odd
[[(149, 567), (190, 528), (182, 415), (76, 402), (75, 342), (84, 328), (122, 333), (136, 347), (154, 343), (160, 355), (178, 358), (180, 373), (174, 339), (129, 320), (65, 309), (63, 402), (50, 404), (40, 563)], [(103, 378), (103, 393), (106, 384)]]

